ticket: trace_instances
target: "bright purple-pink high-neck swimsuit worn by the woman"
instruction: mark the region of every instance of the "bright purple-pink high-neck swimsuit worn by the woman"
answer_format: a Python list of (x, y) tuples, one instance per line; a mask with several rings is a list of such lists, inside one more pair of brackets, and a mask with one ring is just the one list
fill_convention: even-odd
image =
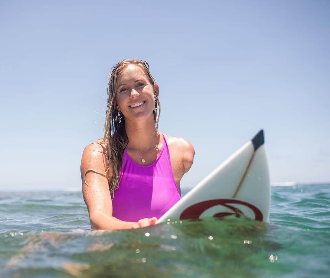
[(160, 154), (151, 165), (135, 163), (124, 151), (122, 178), (112, 200), (114, 217), (133, 222), (146, 217), (159, 218), (181, 199), (164, 135), (163, 139)]

